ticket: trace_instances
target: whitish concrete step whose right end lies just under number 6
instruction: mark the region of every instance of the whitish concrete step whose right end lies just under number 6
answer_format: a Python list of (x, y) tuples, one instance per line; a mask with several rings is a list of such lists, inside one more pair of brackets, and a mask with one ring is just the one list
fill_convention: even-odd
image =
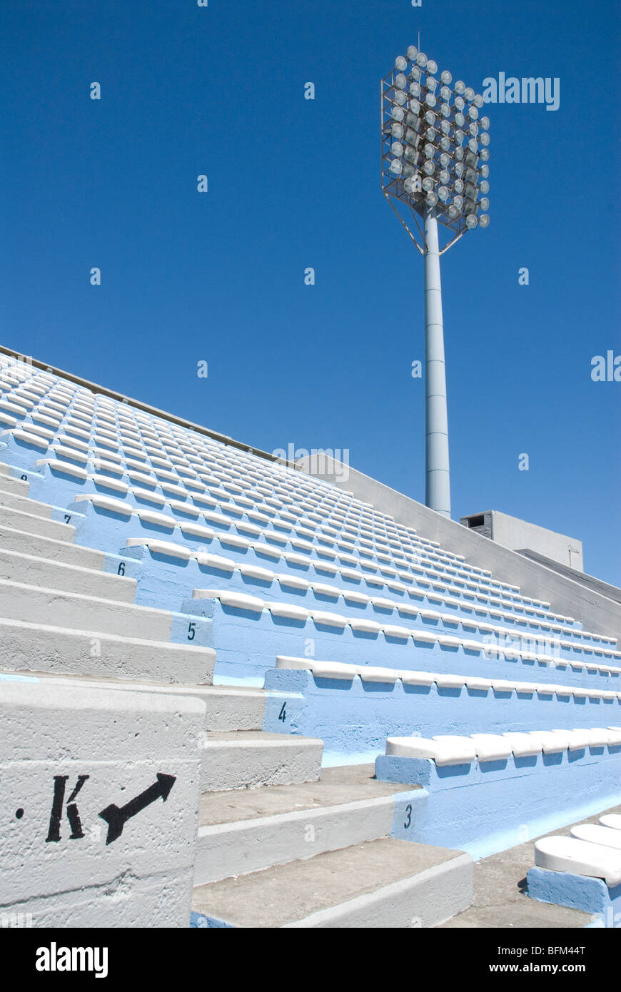
[(1, 542), (0, 579), (10, 579), (26, 585), (45, 585), (65, 592), (78, 592), (123, 603), (133, 603), (136, 595), (135, 578), (7, 551), (1, 547)]

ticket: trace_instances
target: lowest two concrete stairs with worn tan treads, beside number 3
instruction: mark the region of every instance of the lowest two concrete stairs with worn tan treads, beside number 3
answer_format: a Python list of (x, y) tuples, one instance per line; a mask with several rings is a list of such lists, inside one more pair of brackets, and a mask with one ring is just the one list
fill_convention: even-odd
[(373, 766), (318, 782), (203, 795), (195, 927), (432, 927), (472, 898), (467, 854), (390, 838), (395, 793)]

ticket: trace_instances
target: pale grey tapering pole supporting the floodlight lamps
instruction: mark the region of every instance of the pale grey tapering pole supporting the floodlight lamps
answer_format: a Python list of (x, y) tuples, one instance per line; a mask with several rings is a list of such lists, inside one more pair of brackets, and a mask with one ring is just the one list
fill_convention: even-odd
[(437, 220), (433, 208), (428, 208), (425, 214), (425, 413), (425, 502), (432, 510), (450, 517), (442, 291)]

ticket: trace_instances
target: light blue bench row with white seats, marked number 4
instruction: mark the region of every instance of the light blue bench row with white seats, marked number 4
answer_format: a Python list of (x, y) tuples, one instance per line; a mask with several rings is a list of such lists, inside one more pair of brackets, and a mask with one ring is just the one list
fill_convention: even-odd
[(602, 739), (621, 741), (621, 732), (601, 727), (539, 731), (560, 720), (570, 728), (594, 724), (621, 705), (617, 697), (602, 709), (599, 696), (576, 699), (571, 686), (552, 692), (541, 682), (485, 679), (454, 669), (406, 671), (300, 656), (278, 656), (264, 684), (270, 692), (291, 695), (284, 713), (268, 699), (265, 729), (321, 737), (326, 759), (335, 764), (373, 760), (387, 737), (415, 740), (414, 728), (428, 738), (441, 727), (460, 737), (492, 733), (503, 738), (497, 746), (516, 757), (564, 751), (575, 756), (600, 746)]

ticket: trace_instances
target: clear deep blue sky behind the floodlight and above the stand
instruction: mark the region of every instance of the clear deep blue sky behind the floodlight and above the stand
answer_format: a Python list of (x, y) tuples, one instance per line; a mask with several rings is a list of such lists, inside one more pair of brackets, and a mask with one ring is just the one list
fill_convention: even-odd
[(423, 266), (380, 188), (379, 80), (419, 31), (478, 91), (558, 76), (556, 112), (487, 108), (491, 222), (442, 257), (452, 512), (580, 538), (621, 583), (621, 383), (590, 378), (621, 353), (618, 9), (4, 0), (2, 343), (423, 500)]

